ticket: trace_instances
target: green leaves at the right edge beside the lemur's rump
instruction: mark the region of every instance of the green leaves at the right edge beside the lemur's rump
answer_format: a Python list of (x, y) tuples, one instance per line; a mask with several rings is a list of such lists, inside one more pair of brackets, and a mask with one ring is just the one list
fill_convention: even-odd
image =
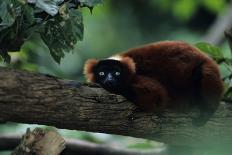
[(224, 56), (222, 50), (219, 47), (205, 42), (197, 43), (196, 47), (207, 53), (220, 65), (221, 74), (225, 83), (224, 97), (225, 99), (232, 100), (232, 54), (230, 56)]

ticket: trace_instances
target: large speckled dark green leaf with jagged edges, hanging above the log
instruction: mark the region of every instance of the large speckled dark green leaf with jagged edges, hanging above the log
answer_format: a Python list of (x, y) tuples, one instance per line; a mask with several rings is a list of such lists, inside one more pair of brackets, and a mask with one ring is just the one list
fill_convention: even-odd
[[(65, 6), (64, 6), (65, 7)], [(65, 9), (65, 8), (64, 8)], [(41, 37), (54, 60), (60, 63), (65, 52), (70, 52), (78, 40), (83, 39), (83, 19), (78, 10), (68, 10), (45, 24)]]

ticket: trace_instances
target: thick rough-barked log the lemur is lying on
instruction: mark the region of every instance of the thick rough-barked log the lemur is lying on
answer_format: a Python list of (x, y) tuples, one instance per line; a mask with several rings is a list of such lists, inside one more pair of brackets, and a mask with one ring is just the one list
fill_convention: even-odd
[(135, 105), (119, 95), (97, 86), (68, 83), (0, 68), (0, 120), (148, 138), (171, 145), (232, 144), (231, 104), (221, 104), (215, 116), (197, 128), (192, 126), (194, 111), (169, 111), (162, 117), (136, 112)]

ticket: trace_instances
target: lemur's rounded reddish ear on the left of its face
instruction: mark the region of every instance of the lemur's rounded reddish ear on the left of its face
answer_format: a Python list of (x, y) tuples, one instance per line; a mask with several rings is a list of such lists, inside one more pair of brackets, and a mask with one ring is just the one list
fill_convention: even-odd
[(96, 59), (89, 59), (85, 62), (84, 75), (88, 82), (95, 82), (94, 67), (97, 65), (97, 63), (98, 60)]

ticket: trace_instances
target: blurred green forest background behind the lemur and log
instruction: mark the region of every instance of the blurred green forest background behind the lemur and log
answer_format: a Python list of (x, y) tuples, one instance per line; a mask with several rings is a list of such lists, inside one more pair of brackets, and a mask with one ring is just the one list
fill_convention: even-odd
[[(82, 9), (84, 40), (78, 42), (60, 64), (52, 59), (48, 48), (35, 35), (23, 45), (21, 52), (11, 53), (10, 65), (3, 62), (1, 65), (85, 81), (82, 68), (88, 58), (106, 58), (131, 47), (161, 40), (183, 40), (190, 44), (210, 41), (210, 30), (220, 17), (232, 10), (231, 6), (229, 0), (105, 0), (94, 8), (92, 14), (87, 8)], [(229, 54), (229, 47), (220, 36), (215, 43)], [(27, 127), (35, 126), (7, 123), (0, 125), (0, 133), (23, 134)], [(70, 130), (59, 132), (66, 137), (119, 147), (146, 149), (162, 146), (130, 137)]]

